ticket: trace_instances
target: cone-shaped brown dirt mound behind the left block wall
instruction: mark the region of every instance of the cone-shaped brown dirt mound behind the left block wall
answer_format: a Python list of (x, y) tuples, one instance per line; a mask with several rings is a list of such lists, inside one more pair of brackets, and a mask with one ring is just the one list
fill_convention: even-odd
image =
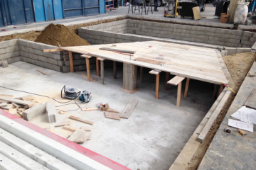
[(80, 36), (76, 35), (67, 27), (61, 24), (54, 25), (53, 23), (50, 23), (50, 25), (38, 35), (35, 42), (42, 42), (55, 46), (60, 45), (61, 47), (90, 45), (87, 40), (80, 38)]

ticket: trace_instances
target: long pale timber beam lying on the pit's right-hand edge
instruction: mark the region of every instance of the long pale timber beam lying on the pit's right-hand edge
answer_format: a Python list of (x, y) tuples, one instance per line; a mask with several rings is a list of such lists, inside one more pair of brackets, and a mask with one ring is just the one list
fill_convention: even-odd
[(210, 128), (213, 126), (214, 121), (218, 117), (220, 111), (225, 106), (226, 101), (228, 101), (228, 97), (230, 96), (231, 91), (225, 91), (225, 95), (221, 99), (220, 103), (218, 104), (217, 108), (215, 108), (215, 111), (212, 115), (210, 115), (210, 118), (208, 122), (206, 123), (205, 127), (201, 131), (200, 135), (196, 139), (198, 142), (203, 142), (203, 140), (206, 138), (206, 135), (208, 134)]

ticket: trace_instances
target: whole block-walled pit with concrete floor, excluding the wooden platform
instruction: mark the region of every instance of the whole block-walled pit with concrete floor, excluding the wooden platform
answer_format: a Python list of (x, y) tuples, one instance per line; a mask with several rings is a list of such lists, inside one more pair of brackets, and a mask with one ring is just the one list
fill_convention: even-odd
[[(175, 28), (177, 32), (170, 32), (169, 28)], [(205, 31), (201, 31), (204, 29)], [(185, 33), (178, 32), (179, 30), (185, 30)], [(188, 33), (188, 31), (191, 32)], [(168, 34), (166, 34), (167, 32)], [(210, 34), (206, 35), (206, 32), (210, 32)], [(164, 34), (168, 36), (164, 36)], [(216, 38), (217, 34), (218, 37)], [(250, 60), (241, 60), (241, 62), (246, 63), (242, 69), (247, 71), (255, 60), (255, 52), (251, 52), (251, 47), (256, 33), (244, 30), (121, 20), (79, 28), (78, 35), (91, 45), (159, 41), (181, 46), (188, 45), (191, 48), (217, 50), (222, 55), (247, 52), (250, 55)], [(159, 98), (156, 99), (156, 75), (149, 73), (152, 70), (151, 67), (137, 68), (137, 79), (135, 81), (137, 81), (139, 89), (134, 93), (129, 93), (122, 90), (125, 75), (124, 64), (119, 60), (113, 62), (106, 59), (104, 61), (104, 81), (102, 84), (102, 75), (98, 74), (99, 71), (97, 70), (97, 67), (99, 67), (97, 62), (99, 61), (95, 60), (93, 56), (88, 59), (90, 62), (90, 67), (88, 67), (85, 57), (81, 57), (83, 53), (72, 52), (73, 62), (70, 64), (70, 52), (67, 52), (68, 50), (64, 48), (55, 52), (43, 52), (43, 50), (58, 47), (22, 39), (0, 43), (1, 50), (6, 56), (4, 60), (9, 62), (9, 67), (0, 68), (1, 79), (4, 80), (1, 81), (0, 86), (18, 90), (11, 91), (1, 88), (1, 94), (22, 98), (23, 96), (29, 96), (29, 94), (22, 92), (27, 91), (32, 93), (33, 101), (38, 101), (38, 103), (45, 103), (49, 100), (49, 98), (43, 96), (50, 96), (50, 98), (55, 98), (57, 101), (66, 102), (68, 100), (61, 98), (60, 95), (61, 89), (65, 85), (91, 93), (91, 101), (81, 103), (81, 108), (95, 108), (98, 103), (108, 103), (110, 108), (119, 111), (119, 113), (122, 113), (131, 99), (137, 99), (139, 102), (128, 119), (113, 120), (106, 118), (104, 112), (100, 109), (97, 111), (81, 111), (74, 101), (70, 101), (73, 104), (66, 106), (62, 106), (65, 103), (55, 102), (56, 108), (64, 112), (64, 114), (56, 113), (56, 123), (48, 122), (47, 113), (29, 121), (60, 137), (68, 138), (73, 132), (65, 130), (63, 127), (55, 127), (57, 123), (66, 120), (70, 115), (90, 120), (94, 125), (85, 125), (85, 123), (68, 119), (70, 126), (73, 128), (79, 129), (82, 126), (92, 128), (90, 140), (80, 145), (122, 164), (128, 169), (169, 169), (170, 167), (170, 169), (185, 169), (191, 164), (193, 164), (191, 169), (197, 169), (200, 161), (199, 163), (191, 163), (192, 157), (196, 154), (197, 149), (200, 150), (198, 152), (204, 154), (214, 136), (214, 132), (210, 132), (211, 136), (207, 136), (206, 143), (202, 144), (196, 140), (210, 119), (209, 113), (213, 113), (215, 110), (214, 104), (215, 107), (218, 107), (222, 99), (218, 98), (219, 95), (226, 96), (222, 103), (223, 110), (226, 109), (225, 107), (229, 107), (230, 101), (232, 102), (234, 98), (232, 95), (229, 96), (230, 91), (224, 89), (223, 86), (219, 86), (220, 84), (203, 81), (205, 79), (197, 80), (193, 78), (190, 79), (190, 82), (188, 81), (189, 89), (186, 90), (186, 97), (184, 97), (186, 79), (183, 80), (181, 96), (179, 96), (177, 94), (178, 87), (168, 84), (166, 87), (166, 81), (180, 76), (180, 74), (170, 74), (167, 80), (167, 74), (160, 72)], [(225, 46), (225, 49), (223, 49), (223, 46)], [(241, 55), (247, 53), (241, 53)], [(228, 60), (232, 60), (232, 57)], [(228, 80), (228, 86), (238, 91), (242, 82), (234, 83), (232, 79), (237, 77), (244, 79), (247, 72), (245, 71), (237, 77), (233, 77), (232, 74), (230, 76), (228, 71), (230, 72), (232, 69), (235, 71), (237, 68), (228, 65), (228, 60), (225, 60), (224, 57), (227, 66), (220, 60), (220, 67), (225, 70), (223, 72)], [(73, 69), (70, 65), (73, 66)], [(116, 67), (114, 72), (113, 67)], [(86, 74), (88, 76), (88, 68), (92, 81), (82, 75)], [(44, 74), (38, 72), (38, 70)], [(99, 75), (100, 77), (98, 77)], [(224, 90), (222, 91), (222, 89)], [(43, 96), (34, 96), (33, 94)], [(181, 98), (180, 107), (176, 106), (178, 96)], [(218, 100), (216, 100), (217, 98)], [(78, 98), (75, 101), (80, 103)], [(226, 101), (228, 101), (228, 105), (224, 106)], [(15, 115), (21, 117), (18, 114)], [(221, 118), (216, 117), (215, 120), (221, 121)], [(0, 126), (0, 128), (2, 127)], [(216, 130), (218, 128), (215, 128)]]

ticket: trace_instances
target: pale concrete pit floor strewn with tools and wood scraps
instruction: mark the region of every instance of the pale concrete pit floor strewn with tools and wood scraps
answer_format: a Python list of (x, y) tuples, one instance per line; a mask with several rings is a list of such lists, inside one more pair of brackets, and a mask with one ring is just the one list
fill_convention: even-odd
[[(39, 69), (47, 75), (36, 70)], [(122, 67), (117, 67), (117, 79), (112, 78), (112, 68), (105, 69), (105, 84), (100, 84), (100, 77), (91, 70), (93, 79), (88, 82), (81, 76), (82, 72), (60, 73), (25, 62), (9, 64), (0, 67), (0, 86), (35, 94), (60, 98), (60, 90), (64, 85), (78, 88), (80, 91), (90, 91), (92, 100), (81, 105), (95, 107), (97, 103), (108, 103), (110, 108), (122, 112), (130, 99), (139, 100), (129, 119), (112, 120), (105, 118), (101, 111), (81, 112), (70, 111), (63, 115), (57, 114), (58, 122), (69, 115), (77, 115), (92, 122), (92, 135), (82, 146), (91, 149), (130, 169), (169, 169), (181, 149), (191, 137), (198, 124), (213, 104), (213, 84), (191, 80), (188, 97), (181, 98), (181, 107), (176, 107), (177, 87), (169, 85), (164, 90), (165, 72), (161, 73), (160, 95), (155, 96), (155, 75), (144, 69), (144, 81), (139, 82), (139, 90), (129, 94), (122, 88)], [(171, 79), (171, 77), (170, 77)], [(183, 89), (186, 81), (183, 81)], [(11, 94), (15, 97), (28, 96), (19, 91), (11, 91), (0, 87), (0, 94)], [(48, 98), (38, 97), (39, 102)], [(79, 102), (79, 101), (78, 101)], [(70, 102), (70, 103), (73, 103)], [(58, 104), (59, 106), (61, 104)], [(62, 106), (61, 109), (74, 110), (76, 105)], [(75, 123), (73, 127), (80, 128), (84, 123)], [(54, 128), (55, 123), (47, 123), (46, 114), (31, 120), (31, 123), (48, 128), (51, 132), (67, 137), (72, 132), (62, 128)]]

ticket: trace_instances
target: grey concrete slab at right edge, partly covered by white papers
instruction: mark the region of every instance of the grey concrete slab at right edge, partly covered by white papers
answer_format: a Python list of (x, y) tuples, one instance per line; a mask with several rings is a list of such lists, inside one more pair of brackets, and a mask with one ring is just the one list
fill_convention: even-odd
[[(255, 62), (252, 64), (250, 72), (256, 72)], [(198, 170), (255, 169), (256, 133), (245, 131), (247, 135), (242, 137), (240, 133), (236, 132), (236, 128), (229, 127), (232, 131), (230, 134), (223, 131), (228, 126), (230, 115), (241, 108), (247, 100), (255, 86), (255, 81), (255, 77), (245, 77)]]

